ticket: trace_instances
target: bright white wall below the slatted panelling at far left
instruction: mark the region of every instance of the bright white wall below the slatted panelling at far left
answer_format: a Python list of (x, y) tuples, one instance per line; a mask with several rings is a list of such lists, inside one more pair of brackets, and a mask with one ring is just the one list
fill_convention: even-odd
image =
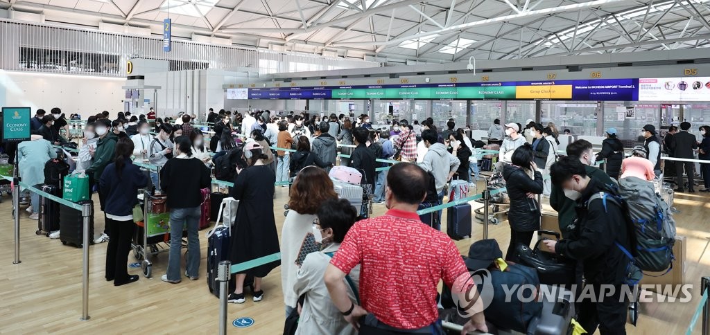
[(67, 115), (86, 119), (108, 110), (112, 117), (123, 111), (125, 79), (69, 74), (38, 74), (0, 70), (0, 105), (31, 107), (49, 112), (59, 107)]

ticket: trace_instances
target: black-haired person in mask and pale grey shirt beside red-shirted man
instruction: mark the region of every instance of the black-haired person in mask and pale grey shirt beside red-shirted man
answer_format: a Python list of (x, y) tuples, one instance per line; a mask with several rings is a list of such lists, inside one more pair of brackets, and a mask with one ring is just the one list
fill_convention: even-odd
[[(357, 212), (348, 200), (325, 200), (313, 220), (316, 242), (322, 242), (320, 252), (308, 254), (298, 269), (293, 290), (302, 302), (296, 334), (354, 335), (357, 331), (343, 319), (328, 293), (323, 276), (332, 257), (340, 248), (345, 235), (355, 224)], [(347, 295), (357, 300), (359, 295), (360, 266), (355, 266), (346, 276)]]

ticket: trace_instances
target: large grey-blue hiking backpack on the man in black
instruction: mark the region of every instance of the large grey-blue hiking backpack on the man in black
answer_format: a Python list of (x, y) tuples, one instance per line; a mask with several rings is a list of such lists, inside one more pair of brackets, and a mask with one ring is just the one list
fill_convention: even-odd
[[(673, 268), (673, 244), (675, 243), (675, 221), (668, 205), (649, 181), (636, 177), (621, 178), (618, 195), (599, 192), (587, 201), (601, 199), (604, 209), (611, 201), (621, 206), (628, 222), (633, 227), (635, 253), (632, 254), (618, 242), (614, 242), (628, 259), (643, 271), (666, 271)], [(664, 273), (664, 274), (665, 274)]]

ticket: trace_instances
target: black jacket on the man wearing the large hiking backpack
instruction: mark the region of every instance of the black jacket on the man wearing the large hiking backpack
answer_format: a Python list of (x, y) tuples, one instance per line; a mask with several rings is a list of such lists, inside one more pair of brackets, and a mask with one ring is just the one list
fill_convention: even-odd
[(606, 210), (601, 200), (592, 201), (587, 208), (591, 195), (605, 189), (598, 180), (591, 179), (577, 200), (577, 224), (569, 239), (557, 242), (555, 252), (582, 261), (589, 283), (620, 285), (629, 260), (614, 242), (633, 250), (626, 216), (611, 201), (606, 202)]

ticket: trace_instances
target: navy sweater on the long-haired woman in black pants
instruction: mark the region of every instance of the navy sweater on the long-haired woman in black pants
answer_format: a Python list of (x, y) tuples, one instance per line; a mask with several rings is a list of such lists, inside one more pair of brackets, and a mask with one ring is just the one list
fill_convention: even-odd
[(133, 206), (138, 203), (138, 189), (146, 186), (148, 177), (141, 168), (133, 165), (131, 159), (125, 160), (120, 176), (116, 171), (116, 163), (109, 164), (99, 180), (99, 188), (106, 195), (104, 212), (116, 216), (132, 215)]

